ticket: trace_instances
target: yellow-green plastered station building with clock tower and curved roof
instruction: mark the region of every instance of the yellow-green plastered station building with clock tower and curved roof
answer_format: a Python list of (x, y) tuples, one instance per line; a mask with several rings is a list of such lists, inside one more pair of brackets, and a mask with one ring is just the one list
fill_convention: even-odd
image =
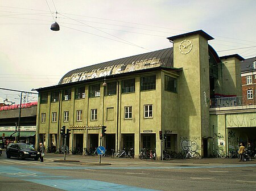
[(210, 120), (210, 99), (242, 94), (240, 60), (225, 65), (202, 30), (167, 39), (173, 47), (75, 69), (58, 85), (36, 89), (36, 143), (59, 148), (65, 126), (71, 149), (102, 144), (107, 152), (134, 147), (135, 156), (141, 148), (212, 155), (217, 118)]

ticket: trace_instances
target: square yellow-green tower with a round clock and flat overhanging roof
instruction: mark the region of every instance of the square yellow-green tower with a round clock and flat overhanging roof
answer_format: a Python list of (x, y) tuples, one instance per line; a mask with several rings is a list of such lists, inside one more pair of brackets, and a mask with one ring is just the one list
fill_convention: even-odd
[(210, 131), (208, 40), (213, 37), (199, 30), (167, 39), (174, 44), (174, 67), (182, 68), (177, 87), (179, 134), (191, 138), (188, 141), (197, 139), (197, 152), (203, 156), (203, 137)]

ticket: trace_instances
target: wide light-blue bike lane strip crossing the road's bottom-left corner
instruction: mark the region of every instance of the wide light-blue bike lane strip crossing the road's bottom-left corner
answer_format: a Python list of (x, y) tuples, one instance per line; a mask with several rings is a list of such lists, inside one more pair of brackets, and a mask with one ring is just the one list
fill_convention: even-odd
[[(63, 168), (67, 169), (67, 168)], [(146, 188), (139, 188), (135, 186), (128, 186), (122, 184), (115, 184), (112, 182), (104, 182), (89, 179), (73, 179), (69, 176), (53, 176), (47, 173), (31, 171), (23, 169), (22, 167), (3, 166), (0, 165), (0, 176), (15, 177), (20, 180), (34, 182), (36, 184), (51, 186), (52, 188), (62, 190), (77, 190), (77, 191), (91, 191), (91, 190), (105, 190), (105, 191), (157, 191)]]

